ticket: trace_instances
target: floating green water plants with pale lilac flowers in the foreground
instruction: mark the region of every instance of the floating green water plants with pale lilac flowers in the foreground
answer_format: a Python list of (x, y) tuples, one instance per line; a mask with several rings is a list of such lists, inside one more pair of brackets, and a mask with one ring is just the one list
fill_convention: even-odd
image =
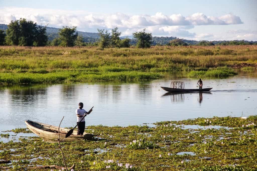
[[(75, 164), (75, 170), (256, 170), (256, 125), (257, 115), (163, 121), (153, 127), (87, 126), (95, 139), (61, 145), (67, 167)], [(15, 140), (20, 132), (23, 137)], [(57, 142), (26, 133), (31, 132), (1, 133), (7, 141), (0, 141), (0, 157), (11, 163), (0, 167), (63, 166)]]

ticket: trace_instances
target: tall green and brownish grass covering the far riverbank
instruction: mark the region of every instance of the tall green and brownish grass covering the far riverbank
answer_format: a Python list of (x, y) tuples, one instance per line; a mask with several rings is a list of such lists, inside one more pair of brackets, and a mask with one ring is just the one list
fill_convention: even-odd
[(257, 67), (257, 45), (152, 46), (148, 49), (0, 46), (0, 84), (99, 82), (235, 75)]

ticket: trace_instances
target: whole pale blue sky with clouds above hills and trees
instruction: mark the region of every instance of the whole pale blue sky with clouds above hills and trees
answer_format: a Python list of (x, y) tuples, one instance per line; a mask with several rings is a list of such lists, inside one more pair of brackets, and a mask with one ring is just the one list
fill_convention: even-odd
[(78, 31), (118, 27), (124, 35), (142, 31), (153, 36), (190, 40), (257, 41), (257, 0), (148, 1), (14, 1), (0, 0), (0, 24), (26, 18), (37, 24)]

